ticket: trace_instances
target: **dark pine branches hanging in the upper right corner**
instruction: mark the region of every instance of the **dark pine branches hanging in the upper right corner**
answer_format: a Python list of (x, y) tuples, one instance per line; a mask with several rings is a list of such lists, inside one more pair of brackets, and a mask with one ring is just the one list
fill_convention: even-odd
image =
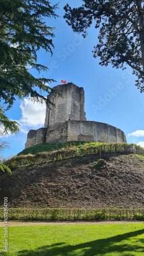
[(79, 8), (67, 4), (64, 18), (71, 28), (86, 37), (87, 29), (95, 23), (99, 28), (99, 43), (93, 56), (100, 65), (125, 69), (129, 65), (137, 76), (136, 86), (144, 91), (144, 22), (143, 1), (83, 0)]

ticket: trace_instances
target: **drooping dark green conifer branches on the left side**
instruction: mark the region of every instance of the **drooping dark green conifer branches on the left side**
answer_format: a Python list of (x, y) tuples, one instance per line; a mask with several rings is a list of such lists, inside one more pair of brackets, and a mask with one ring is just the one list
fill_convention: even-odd
[(57, 4), (52, 6), (46, 0), (0, 0), (0, 100), (4, 104), (0, 124), (6, 132), (19, 130), (4, 113), (16, 97), (46, 101), (42, 91), (53, 91), (49, 87), (53, 79), (34, 77), (30, 69), (47, 70), (37, 63), (37, 52), (42, 48), (53, 53), (54, 28), (47, 26), (44, 18), (56, 18), (56, 9)]

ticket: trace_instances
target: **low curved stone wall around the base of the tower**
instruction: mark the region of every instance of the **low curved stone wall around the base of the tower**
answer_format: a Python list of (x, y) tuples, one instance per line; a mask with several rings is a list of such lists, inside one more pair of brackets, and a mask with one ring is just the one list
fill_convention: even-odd
[(66, 141), (127, 142), (123, 131), (107, 123), (69, 120), (52, 124), (49, 129), (30, 130), (25, 148), (45, 142)]

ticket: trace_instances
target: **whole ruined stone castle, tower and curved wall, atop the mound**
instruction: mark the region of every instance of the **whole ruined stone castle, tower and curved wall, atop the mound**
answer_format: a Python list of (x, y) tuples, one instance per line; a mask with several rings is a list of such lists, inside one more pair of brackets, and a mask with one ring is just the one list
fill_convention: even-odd
[(46, 107), (44, 127), (30, 130), (25, 148), (40, 143), (66, 141), (126, 142), (123, 131), (107, 123), (87, 121), (84, 89), (70, 82), (53, 88), (47, 98), (55, 105)]

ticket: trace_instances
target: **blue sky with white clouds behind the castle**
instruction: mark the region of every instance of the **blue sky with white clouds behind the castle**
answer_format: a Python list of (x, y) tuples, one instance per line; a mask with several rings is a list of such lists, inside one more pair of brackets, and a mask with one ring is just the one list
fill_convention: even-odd
[[(56, 3), (52, 1), (54, 2)], [(98, 43), (99, 31), (94, 29), (93, 24), (85, 39), (81, 34), (74, 33), (63, 19), (63, 6), (66, 3), (71, 7), (78, 7), (82, 1), (76, 1), (76, 4), (72, 0), (61, 1), (57, 10), (60, 17), (46, 20), (47, 25), (55, 27), (55, 49), (52, 57), (43, 50), (38, 53), (38, 62), (49, 67), (49, 71), (39, 75), (36, 71), (32, 73), (57, 80), (52, 87), (60, 84), (61, 79), (83, 87), (87, 120), (116, 126), (125, 132), (128, 143), (139, 143), (144, 147), (144, 93), (140, 93), (134, 86), (135, 77), (131, 68), (121, 70), (114, 69), (111, 65), (100, 66), (99, 58), (92, 56), (93, 46)], [(16, 100), (7, 115), (20, 123), (21, 132), (1, 137), (10, 146), (2, 153), (4, 157), (16, 155), (25, 148), (30, 129), (43, 127), (45, 105), (33, 104), (28, 98)]]

